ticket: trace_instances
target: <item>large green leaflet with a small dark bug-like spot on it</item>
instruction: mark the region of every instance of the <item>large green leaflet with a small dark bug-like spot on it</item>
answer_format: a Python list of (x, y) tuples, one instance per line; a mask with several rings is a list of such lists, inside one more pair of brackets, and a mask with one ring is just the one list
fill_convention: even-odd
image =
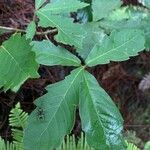
[(48, 93), (36, 102), (25, 130), (25, 150), (52, 150), (60, 145), (74, 125), (83, 67), (65, 80), (48, 86)]

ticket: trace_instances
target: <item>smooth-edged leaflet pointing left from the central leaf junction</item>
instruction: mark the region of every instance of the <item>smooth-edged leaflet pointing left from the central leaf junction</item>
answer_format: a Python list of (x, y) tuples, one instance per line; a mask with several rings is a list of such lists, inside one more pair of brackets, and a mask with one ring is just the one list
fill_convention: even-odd
[(36, 53), (36, 60), (39, 64), (54, 66), (80, 66), (80, 60), (62, 47), (53, 45), (50, 41), (44, 40), (33, 42), (33, 50)]

